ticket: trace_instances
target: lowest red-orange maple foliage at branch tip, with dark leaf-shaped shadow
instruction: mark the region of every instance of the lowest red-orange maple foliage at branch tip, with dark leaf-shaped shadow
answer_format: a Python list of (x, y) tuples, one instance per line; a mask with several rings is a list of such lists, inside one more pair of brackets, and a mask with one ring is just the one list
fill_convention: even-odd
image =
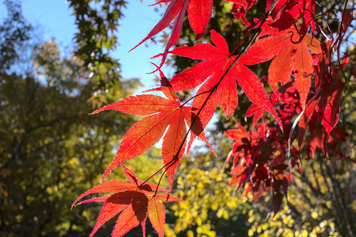
[(121, 214), (117, 218), (111, 236), (121, 237), (125, 235), (127, 231), (140, 224), (142, 225), (143, 236), (145, 236), (145, 224), (147, 215), (150, 218), (150, 222), (153, 228), (157, 231), (158, 235), (164, 236), (166, 209), (160, 201), (171, 202), (183, 200), (168, 194), (167, 190), (162, 188), (158, 188), (158, 190), (164, 191), (165, 193), (155, 193), (157, 185), (152, 183), (144, 183), (142, 180), (136, 177), (132, 170), (125, 167), (125, 165), (121, 164), (121, 166), (125, 170), (126, 178), (131, 181), (131, 183), (113, 180), (99, 184), (80, 195), (73, 203), (74, 205), (79, 199), (88, 194), (114, 192), (109, 195), (95, 197), (79, 202), (79, 204), (93, 201), (104, 202), (103, 207), (100, 210), (99, 217), (89, 237), (92, 237), (95, 232), (104, 225), (104, 223), (106, 223), (120, 212)]

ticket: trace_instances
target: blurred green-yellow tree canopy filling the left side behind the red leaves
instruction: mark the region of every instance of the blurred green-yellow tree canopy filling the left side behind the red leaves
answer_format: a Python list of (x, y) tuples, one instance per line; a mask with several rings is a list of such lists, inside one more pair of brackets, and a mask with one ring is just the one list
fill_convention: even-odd
[[(18, 2), (5, 5), (8, 15), (0, 25), (0, 236), (88, 236), (99, 207), (71, 211), (70, 206), (98, 183), (114, 147), (137, 119), (110, 112), (89, 116), (92, 96), (108, 89), (111, 82), (105, 81), (116, 81), (114, 93), (104, 93), (109, 102), (131, 95), (141, 84), (122, 79), (116, 60), (101, 51), (116, 44), (114, 38), (103, 39), (110, 30), (106, 25), (92, 36), (103, 41), (85, 46), (95, 56), (84, 57), (89, 48), (79, 42), (87, 39), (79, 38), (73, 54), (64, 56), (55, 39), (34, 39), (36, 30)], [(90, 31), (78, 30), (78, 36)], [(141, 158), (146, 169), (138, 163), (129, 167), (148, 175), (157, 162), (156, 150)], [(110, 233), (103, 229), (98, 236)]]

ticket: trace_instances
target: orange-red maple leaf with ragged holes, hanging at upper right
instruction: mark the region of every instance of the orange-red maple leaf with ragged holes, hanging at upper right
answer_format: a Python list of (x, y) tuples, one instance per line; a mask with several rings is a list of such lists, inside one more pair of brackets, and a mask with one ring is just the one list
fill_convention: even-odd
[[(296, 43), (301, 36), (299, 29), (295, 26), (285, 31), (278, 31), (265, 25), (263, 30), (271, 36), (254, 43), (247, 53), (264, 61), (274, 58), (269, 65), (268, 82), (278, 97), (278, 81), (282, 85), (286, 84), (294, 70), (295, 83), (302, 107), (305, 109), (313, 73), (313, 58), (308, 52), (308, 46), (312, 52), (319, 54), (321, 53), (320, 42), (307, 33), (299, 43)], [(295, 51), (294, 54), (292, 51)]]

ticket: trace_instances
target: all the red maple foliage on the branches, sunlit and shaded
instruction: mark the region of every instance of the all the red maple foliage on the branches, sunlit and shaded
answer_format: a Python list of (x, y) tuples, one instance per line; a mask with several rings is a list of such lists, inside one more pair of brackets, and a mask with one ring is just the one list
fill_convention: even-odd
[[(218, 104), (226, 119), (234, 113), (238, 105), (237, 85), (253, 103), (246, 111), (246, 117), (253, 118), (250, 130), (236, 121), (237, 128), (226, 131), (227, 136), (235, 141), (225, 163), (232, 163), (230, 185), (236, 186), (236, 190), (245, 189), (246, 193), (253, 194), (255, 201), (270, 191), (271, 210), (276, 214), (283, 197), (287, 197), (288, 183), (293, 179), (291, 170), (297, 167), (302, 172), (300, 152), (307, 127), (311, 131), (307, 135), (309, 158), (314, 157), (315, 149), (319, 147), (329, 159), (328, 143), (336, 156), (340, 159), (347, 158), (342, 152), (335, 150), (335, 139), (342, 141), (348, 135), (337, 127), (339, 101), (348, 80), (344, 68), (349, 63), (349, 54), (341, 55), (340, 51), (341, 48), (347, 49), (344, 37), (354, 20), (354, 9), (348, 9), (348, 0), (343, 2), (343, 8), (340, 2), (335, 2), (326, 13), (318, 16), (315, 16), (315, 1), (268, 0), (265, 3), (266, 12), (253, 23), (246, 20), (245, 14), (256, 4), (255, 1), (228, 1), (234, 3), (232, 9), (236, 19), (242, 19), (250, 27), (232, 51), (229, 50), (226, 39), (215, 29), (209, 31), (211, 42), (215, 46), (198, 43), (169, 50), (179, 39), (187, 10), (190, 26), (196, 33), (195, 40), (207, 33), (212, 0), (160, 0), (152, 4), (167, 4), (167, 10), (147, 37), (131, 50), (157, 35), (174, 20), (164, 52), (152, 57), (162, 57), (159, 67), (155, 65), (156, 69), (153, 71), (159, 71), (161, 86), (145, 91), (158, 91), (166, 98), (150, 94), (130, 96), (93, 112), (96, 114), (104, 110), (117, 110), (146, 117), (126, 132), (113, 162), (101, 177), (100, 184), (74, 202), (75, 204), (88, 194), (114, 192), (79, 203), (104, 202), (90, 236), (120, 212), (112, 236), (123, 236), (140, 224), (145, 235), (147, 216), (158, 235), (164, 235), (165, 212), (160, 201), (182, 201), (170, 194), (180, 159), (184, 153), (188, 157), (196, 137), (202, 139), (215, 154), (204, 130)], [(335, 33), (328, 25), (328, 37), (323, 25), (315, 27), (315, 19), (326, 14), (329, 16), (336, 6), (341, 9), (341, 20)], [(248, 41), (242, 44), (245, 39)], [(234, 55), (238, 49), (239, 53)], [(203, 61), (177, 73), (169, 81), (160, 69), (168, 54)], [(271, 59), (268, 77), (260, 79), (253, 70), (246, 67)], [(263, 87), (267, 80), (273, 93), (266, 93)], [(195, 89), (198, 86), (199, 89)], [(196, 90), (194, 96), (185, 102), (179, 100), (176, 94), (178, 91), (192, 89)], [(193, 100), (192, 105), (186, 106), (190, 100)], [(266, 118), (268, 114), (276, 121)], [(316, 126), (318, 121), (321, 121), (322, 127)], [(295, 137), (294, 128), (298, 122), (298, 136)], [(336, 138), (331, 136), (332, 131)], [(146, 152), (162, 137), (163, 166), (147, 180), (138, 179), (123, 163)], [(294, 140), (297, 143), (296, 148)], [(131, 183), (120, 180), (101, 183), (119, 165), (124, 168)], [(158, 184), (148, 183), (162, 170)], [(160, 187), (165, 173), (168, 190)]]

